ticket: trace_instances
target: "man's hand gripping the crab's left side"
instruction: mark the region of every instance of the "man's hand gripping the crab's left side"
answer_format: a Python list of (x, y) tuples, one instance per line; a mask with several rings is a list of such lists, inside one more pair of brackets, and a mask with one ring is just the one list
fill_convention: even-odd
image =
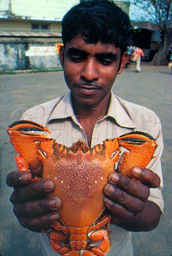
[(50, 228), (52, 223), (59, 219), (61, 199), (45, 198), (54, 190), (52, 180), (31, 182), (31, 179), (30, 172), (11, 172), (7, 175), (6, 183), (14, 188), (10, 201), (21, 225), (32, 231), (41, 232)]

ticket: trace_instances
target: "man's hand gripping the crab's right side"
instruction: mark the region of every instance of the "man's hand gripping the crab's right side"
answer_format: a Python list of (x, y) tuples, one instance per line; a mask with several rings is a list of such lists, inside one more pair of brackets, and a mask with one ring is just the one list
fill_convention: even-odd
[(157, 188), (160, 178), (151, 170), (133, 167), (138, 181), (118, 173), (109, 175), (104, 187), (105, 206), (112, 212), (112, 223), (130, 231), (148, 231), (157, 227), (161, 211), (148, 201), (149, 188)]

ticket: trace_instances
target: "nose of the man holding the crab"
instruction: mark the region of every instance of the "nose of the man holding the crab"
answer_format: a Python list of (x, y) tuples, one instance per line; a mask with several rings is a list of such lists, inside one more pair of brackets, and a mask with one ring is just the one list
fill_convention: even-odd
[(93, 81), (99, 78), (99, 68), (94, 58), (87, 59), (85, 63), (83, 63), (80, 76), (87, 81)]

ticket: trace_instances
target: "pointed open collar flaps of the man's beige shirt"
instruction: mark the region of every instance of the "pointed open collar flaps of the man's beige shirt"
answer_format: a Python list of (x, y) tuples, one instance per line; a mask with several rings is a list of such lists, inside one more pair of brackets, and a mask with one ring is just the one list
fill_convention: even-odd
[[(130, 119), (125, 108), (119, 102), (119, 98), (114, 96), (111, 92), (111, 100), (108, 109), (108, 114), (104, 118), (112, 117), (114, 121), (121, 127), (134, 129), (136, 126)], [(75, 113), (73, 111), (71, 102), (71, 93), (68, 92), (58, 103), (58, 105), (53, 109), (48, 122), (53, 119), (64, 119), (71, 117), (75, 123), (78, 123)], [(104, 119), (103, 118), (103, 119)]]

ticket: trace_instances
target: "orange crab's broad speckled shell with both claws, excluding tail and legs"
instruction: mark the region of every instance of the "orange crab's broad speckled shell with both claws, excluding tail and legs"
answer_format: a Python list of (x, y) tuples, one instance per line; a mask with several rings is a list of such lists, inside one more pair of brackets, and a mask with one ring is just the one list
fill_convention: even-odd
[(157, 147), (154, 138), (143, 132), (130, 132), (89, 148), (80, 140), (66, 147), (45, 134), (31, 131), (50, 132), (31, 121), (15, 122), (7, 130), (28, 169), (36, 169), (42, 163), (43, 179), (54, 181), (55, 189), (48, 196), (61, 198), (60, 221), (69, 227), (88, 227), (104, 211), (103, 187), (119, 161), (121, 147), (127, 150), (122, 154), (119, 170), (129, 177), (133, 166), (148, 165)]

